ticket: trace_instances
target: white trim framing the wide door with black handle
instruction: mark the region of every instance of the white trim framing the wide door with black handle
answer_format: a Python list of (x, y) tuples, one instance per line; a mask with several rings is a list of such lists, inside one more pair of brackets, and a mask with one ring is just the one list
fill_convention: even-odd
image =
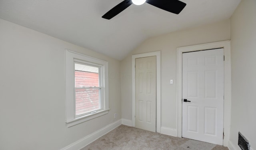
[(231, 50), (230, 40), (177, 48), (177, 117), (178, 137), (182, 137), (182, 53), (198, 50), (224, 48), (224, 140), (228, 146), (231, 121)]

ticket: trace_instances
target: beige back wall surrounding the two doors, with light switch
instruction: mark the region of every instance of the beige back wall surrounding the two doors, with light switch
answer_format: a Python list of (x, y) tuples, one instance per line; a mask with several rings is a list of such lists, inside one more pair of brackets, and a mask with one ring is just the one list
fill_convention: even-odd
[[(144, 41), (121, 61), (122, 118), (132, 120), (132, 54), (161, 51), (161, 124), (162, 127), (176, 129), (177, 48), (229, 39), (230, 22), (229, 20), (224, 20), (214, 24), (172, 32)], [(174, 80), (174, 84), (169, 84), (170, 79)]]

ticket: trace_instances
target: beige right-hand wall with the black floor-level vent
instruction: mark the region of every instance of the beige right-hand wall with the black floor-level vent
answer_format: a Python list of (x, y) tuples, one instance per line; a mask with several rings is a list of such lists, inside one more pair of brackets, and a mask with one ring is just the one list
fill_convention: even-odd
[(231, 17), (232, 116), (230, 141), (238, 131), (256, 149), (256, 0), (242, 0)]

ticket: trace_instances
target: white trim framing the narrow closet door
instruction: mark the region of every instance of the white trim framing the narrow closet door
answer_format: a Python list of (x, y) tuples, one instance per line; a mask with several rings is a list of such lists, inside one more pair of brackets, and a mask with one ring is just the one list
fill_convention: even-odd
[(135, 127), (135, 59), (142, 57), (156, 56), (156, 132), (160, 133), (161, 129), (161, 60), (160, 51), (149, 52), (144, 54), (132, 55), (132, 126)]

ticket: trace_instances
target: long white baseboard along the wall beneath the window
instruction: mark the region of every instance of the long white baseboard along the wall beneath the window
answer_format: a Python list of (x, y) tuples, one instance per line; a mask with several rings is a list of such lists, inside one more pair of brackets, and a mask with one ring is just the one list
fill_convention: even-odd
[(111, 124), (109, 124), (108, 126), (105, 126), (104, 128), (101, 128), (100, 130), (97, 130), (96, 132), (93, 132), (92, 134), (62, 148), (61, 150), (80, 150), (81, 148), (83, 148), (84, 146), (90, 144), (91, 142), (97, 140), (98, 138), (100, 138), (101, 136), (107, 134), (108, 132), (110, 132), (111, 130), (113, 130), (114, 128), (120, 126), (122, 124), (121, 119), (117, 120), (116, 122), (113, 122)]

